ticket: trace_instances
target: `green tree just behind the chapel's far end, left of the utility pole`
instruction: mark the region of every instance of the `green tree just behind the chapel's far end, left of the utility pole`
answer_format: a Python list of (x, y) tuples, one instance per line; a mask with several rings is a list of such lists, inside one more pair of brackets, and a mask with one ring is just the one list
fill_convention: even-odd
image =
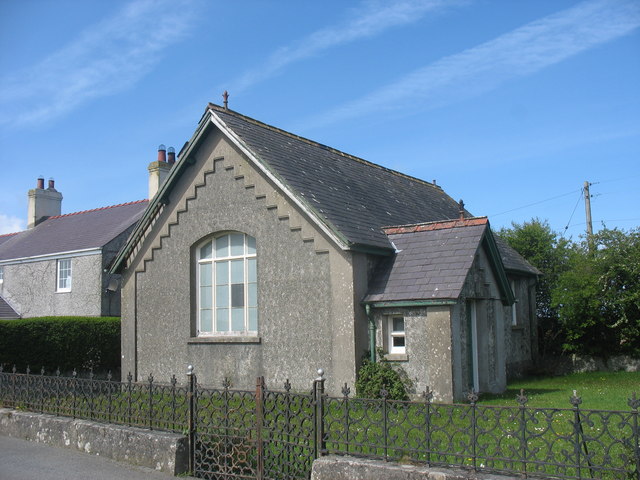
[(512, 223), (511, 228), (498, 231), (498, 236), (542, 272), (536, 288), (539, 351), (542, 355), (560, 353), (564, 339), (551, 294), (560, 275), (569, 268), (573, 244), (551, 230), (546, 220), (538, 218), (521, 224)]

